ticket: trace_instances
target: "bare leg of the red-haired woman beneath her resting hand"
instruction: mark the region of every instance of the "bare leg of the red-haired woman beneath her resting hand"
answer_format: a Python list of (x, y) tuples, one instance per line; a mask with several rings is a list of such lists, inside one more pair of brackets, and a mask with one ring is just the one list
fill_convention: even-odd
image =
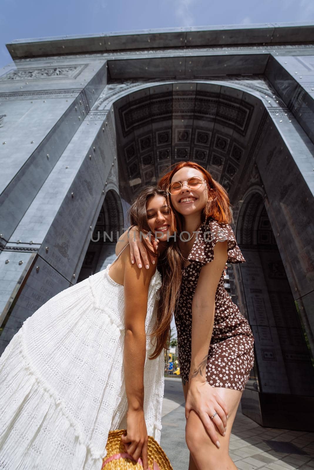
[[(188, 392), (188, 383), (183, 386), (184, 394)], [(212, 443), (202, 421), (195, 411), (191, 411), (186, 424), (186, 441), (190, 451), (189, 470), (235, 470), (236, 466), (229, 456), (229, 441), (236, 410), (242, 392), (227, 388), (216, 388), (226, 402), (229, 417), (225, 436), (219, 434), (220, 448)]]

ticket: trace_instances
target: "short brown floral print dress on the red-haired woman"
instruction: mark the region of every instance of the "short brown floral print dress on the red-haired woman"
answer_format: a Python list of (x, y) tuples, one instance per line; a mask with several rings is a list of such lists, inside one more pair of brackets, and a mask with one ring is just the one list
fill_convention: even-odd
[[(244, 263), (229, 224), (208, 218), (196, 233), (188, 256), (191, 263), (182, 268), (182, 283), (176, 311), (180, 374), (188, 381), (191, 364), (192, 300), (202, 266), (214, 258), (217, 242), (228, 240), (227, 263)], [(210, 281), (209, 281), (210, 282)], [(206, 380), (212, 387), (243, 390), (254, 363), (254, 337), (248, 321), (224, 288), (224, 270), (215, 295), (215, 317), (206, 365)]]

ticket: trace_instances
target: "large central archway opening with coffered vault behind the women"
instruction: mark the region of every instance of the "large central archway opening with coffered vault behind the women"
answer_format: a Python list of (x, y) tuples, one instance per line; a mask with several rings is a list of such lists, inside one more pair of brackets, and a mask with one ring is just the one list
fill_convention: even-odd
[[(259, 347), (258, 336), (256, 368), (246, 390), (251, 395), (243, 393), (243, 409), (250, 408), (251, 417), (266, 426), (292, 429), (294, 420), (298, 429), (300, 419), (293, 414), (292, 400), (294, 408), (299, 407), (303, 414), (302, 429), (309, 429), (304, 398), (307, 394), (308, 404), (313, 406), (313, 367), (291, 291), (293, 265), (285, 248), (276, 243), (275, 235), (279, 234), (274, 235), (276, 215), (283, 224), (287, 222), (283, 206), (278, 204), (278, 197), (283, 199), (287, 192), (283, 179), (289, 180), (292, 172), (294, 180), (300, 183), (302, 179), (300, 168), (285, 145), (284, 134), (277, 126), (274, 129), (271, 126), (272, 115), (259, 96), (218, 83), (146, 86), (124, 95), (113, 108), (119, 192), (126, 202), (131, 202), (143, 186), (156, 183), (172, 164), (182, 160), (201, 164), (227, 190), (237, 225), (236, 238), (246, 259), (243, 265), (228, 269), (231, 295), (251, 327), (258, 327), (255, 334), (265, 335), (266, 344)], [(265, 144), (269, 135), (271, 148)], [(282, 171), (276, 174), (277, 185), (270, 184), (275, 161), (283, 162)], [(250, 197), (244, 197), (248, 194)], [(269, 201), (265, 206), (267, 195)], [(270, 206), (267, 214), (266, 207)], [(244, 220), (247, 230), (239, 228)], [(287, 231), (286, 241), (295, 234), (298, 236), (298, 231)], [(281, 312), (276, 313), (277, 323), (273, 314), (276, 308)], [(286, 309), (291, 324), (282, 327), (279, 319)], [(272, 319), (265, 323), (268, 312)], [(291, 339), (293, 329), (296, 335)], [(307, 374), (311, 377), (308, 381)], [(306, 385), (304, 388), (301, 382)], [(280, 415), (279, 403), (284, 409)]]

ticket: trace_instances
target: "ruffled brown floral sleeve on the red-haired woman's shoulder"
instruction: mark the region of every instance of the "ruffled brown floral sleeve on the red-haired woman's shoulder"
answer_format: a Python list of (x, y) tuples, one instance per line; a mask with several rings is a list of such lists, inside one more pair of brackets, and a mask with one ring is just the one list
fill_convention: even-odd
[(217, 242), (228, 241), (227, 263), (245, 263), (243, 254), (238, 247), (235, 234), (229, 224), (217, 222), (209, 218), (196, 233), (196, 240), (189, 254), (189, 261), (199, 261), (203, 266), (214, 258), (214, 246)]

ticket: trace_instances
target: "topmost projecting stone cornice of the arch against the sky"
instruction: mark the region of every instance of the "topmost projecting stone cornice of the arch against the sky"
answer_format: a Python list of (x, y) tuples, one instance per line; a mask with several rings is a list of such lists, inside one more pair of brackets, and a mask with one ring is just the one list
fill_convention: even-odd
[(18, 39), (7, 44), (13, 59), (109, 51), (185, 49), (208, 46), (277, 46), (313, 42), (310, 23), (222, 25), (199, 28), (123, 31), (84, 36)]

